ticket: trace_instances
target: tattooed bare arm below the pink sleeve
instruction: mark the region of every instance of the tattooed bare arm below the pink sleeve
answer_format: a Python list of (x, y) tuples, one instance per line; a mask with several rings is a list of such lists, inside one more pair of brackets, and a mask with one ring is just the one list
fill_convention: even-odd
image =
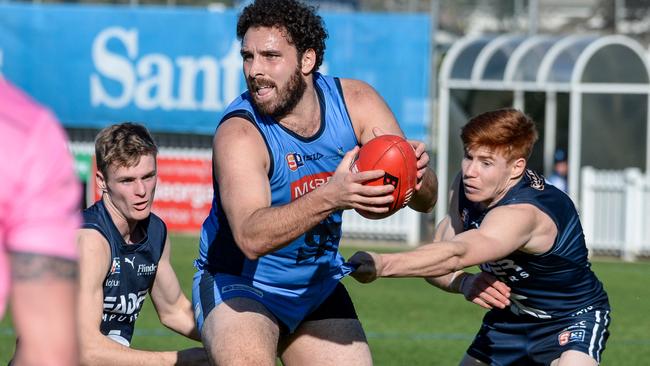
[(14, 365), (77, 364), (77, 262), (10, 253), (11, 308), (19, 344)]

